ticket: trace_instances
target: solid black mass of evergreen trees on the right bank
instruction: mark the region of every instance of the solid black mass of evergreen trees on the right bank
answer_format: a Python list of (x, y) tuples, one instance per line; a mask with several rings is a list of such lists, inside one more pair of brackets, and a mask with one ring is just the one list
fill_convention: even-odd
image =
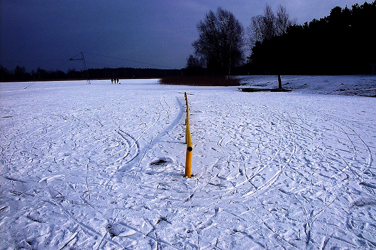
[(248, 57), (253, 74), (371, 74), (376, 63), (376, 1), (336, 6), (329, 16), (256, 41)]

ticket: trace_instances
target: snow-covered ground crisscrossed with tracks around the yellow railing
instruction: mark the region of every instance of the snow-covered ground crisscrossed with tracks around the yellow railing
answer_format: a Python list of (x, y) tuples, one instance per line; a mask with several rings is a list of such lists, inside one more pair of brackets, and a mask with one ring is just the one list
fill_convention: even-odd
[(0, 249), (376, 249), (376, 76), (120, 82), (0, 83)]

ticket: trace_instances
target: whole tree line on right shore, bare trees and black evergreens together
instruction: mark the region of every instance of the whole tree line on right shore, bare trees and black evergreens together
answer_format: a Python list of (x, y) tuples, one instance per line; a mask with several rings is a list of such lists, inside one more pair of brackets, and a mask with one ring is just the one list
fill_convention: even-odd
[[(284, 6), (266, 5), (244, 29), (222, 8), (197, 24), (199, 38), (187, 58), (188, 75), (371, 74), (376, 62), (376, 0), (352, 8), (336, 6), (329, 16), (297, 25)], [(250, 55), (244, 58), (244, 52)], [(235, 71), (231, 71), (231, 69)]]

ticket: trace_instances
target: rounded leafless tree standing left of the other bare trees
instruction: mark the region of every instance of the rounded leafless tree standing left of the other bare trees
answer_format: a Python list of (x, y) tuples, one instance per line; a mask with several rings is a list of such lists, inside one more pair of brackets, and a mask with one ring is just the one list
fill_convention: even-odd
[(208, 68), (230, 75), (231, 67), (243, 62), (244, 29), (234, 14), (220, 7), (217, 13), (210, 10), (197, 24), (197, 30), (199, 38), (192, 46)]

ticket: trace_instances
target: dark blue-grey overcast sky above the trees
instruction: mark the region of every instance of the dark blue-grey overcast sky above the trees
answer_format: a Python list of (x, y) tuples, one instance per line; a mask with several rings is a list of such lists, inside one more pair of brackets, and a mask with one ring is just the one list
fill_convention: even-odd
[(84, 51), (88, 68), (179, 69), (185, 67), (188, 55), (193, 53), (191, 43), (198, 38), (196, 24), (218, 6), (231, 11), (246, 28), (252, 16), (263, 13), (267, 3), (274, 11), (282, 4), (290, 17), (303, 24), (329, 15), (334, 6), (347, 4), (351, 8), (355, 2), (0, 0), (0, 64), (8, 70), (25, 66), (28, 72), (38, 67), (81, 70), (81, 61), (68, 59)]

